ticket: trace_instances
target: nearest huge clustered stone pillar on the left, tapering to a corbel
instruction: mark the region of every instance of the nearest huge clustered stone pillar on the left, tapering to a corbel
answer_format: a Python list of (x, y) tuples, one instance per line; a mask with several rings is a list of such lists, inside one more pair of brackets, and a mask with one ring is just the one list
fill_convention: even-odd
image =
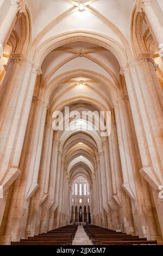
[[(4, 79), (4, 93), (1, 101), (0, 131), (0, 199), (4, 201), (5, 192), (20, 175), (18, 168), (32, 96), (37, 76), (37, 68), (29, 60), (15, 54), (9, 63), (9, 74)], [(11, 81), (10, 81), (11, 77)], [(1, 204), (1, 202), (0, 202)], [(4, 207), (0, 207), (3, 216)], [(1, 223), (0, 223), (1, 224)]]

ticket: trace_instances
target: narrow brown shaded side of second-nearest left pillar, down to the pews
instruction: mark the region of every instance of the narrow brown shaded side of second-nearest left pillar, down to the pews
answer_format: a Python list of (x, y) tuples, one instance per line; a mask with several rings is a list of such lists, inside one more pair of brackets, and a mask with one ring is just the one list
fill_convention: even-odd
[[(16, 241), (18, 238), (24, 237), (26, 230), (26, 221), (28, 217), (28, 207), (29, 201), (24, 200), (24, 193), (26, 189), (26, 182), (28, 176), (27, 162), (30, 152), (30, 145), (32, 141), (30, 139), (30, 128), (32, 126), (32, 117), (35, 108), (35, 100), (32, 101), (32, 106), (30, 108), (30, 114), (28, 119), (28, 125), (26, 130), (26, 136), (24, 138), (23, 149), (20, 159), (20, 176), (15, 180), (13, 184), (12, 197), (9, 205), (7, 225), (5, 227), (3, 236), (1, 237), (4, 244), (9, 245), (10, 241)], [(12, 185), (10, 186), (12, 187)], [(10, 188), (9, 188), (10, 190)], [(6, 193), (6, 192), (5, 192)], [(20, 225), (21, 223), (21, 225)], [(17, 238), (17, 235), (20, 237)]]

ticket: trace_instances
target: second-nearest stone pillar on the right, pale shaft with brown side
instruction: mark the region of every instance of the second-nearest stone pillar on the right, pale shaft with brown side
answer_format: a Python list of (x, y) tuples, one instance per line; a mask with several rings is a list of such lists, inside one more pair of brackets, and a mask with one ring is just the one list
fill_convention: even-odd
[(128, 111), (127, 99), (117, 101), (115, 114), (123, 174), (122, 186), (131, 199), (136, 234), (150, 239), (150, 229), (145, 219), (146, 210), (142, 209), (145, 205), (145, 198), (140, 187), (140, 161), (139, 155), (136, 154), (137, 145), (134, 143), (135, 133), (131, 126), (132, 120)]

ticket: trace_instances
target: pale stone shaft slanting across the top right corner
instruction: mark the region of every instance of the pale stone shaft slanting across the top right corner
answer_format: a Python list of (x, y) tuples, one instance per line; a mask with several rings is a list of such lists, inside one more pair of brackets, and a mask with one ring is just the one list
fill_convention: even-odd
[(149, 26), (152, 29), (151, 33), (159, 47), (160, 56), (163, 57), (163, 28), (161, 27), (158, 17), (152, 8), (150, 0), (142, 0), (142, 7), (147, 16)]

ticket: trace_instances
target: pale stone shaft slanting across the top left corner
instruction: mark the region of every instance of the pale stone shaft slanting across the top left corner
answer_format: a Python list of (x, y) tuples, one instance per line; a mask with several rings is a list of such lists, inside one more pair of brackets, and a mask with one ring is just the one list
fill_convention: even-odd
[(0, 57), (2, 56), (5, 43), (8, 40), (9, 33), (11, 33), (11, 29), (12, 26), (14, 25), (14, 21), (16, 19), (18, 11), (22, 13), (22, 11), (24, 10), (25, 8), (23, 7), (22, 0), (11, 0), (11, 5), (8, 10), (8, 13), (5, 15), (2, 25), (0, 27)]

